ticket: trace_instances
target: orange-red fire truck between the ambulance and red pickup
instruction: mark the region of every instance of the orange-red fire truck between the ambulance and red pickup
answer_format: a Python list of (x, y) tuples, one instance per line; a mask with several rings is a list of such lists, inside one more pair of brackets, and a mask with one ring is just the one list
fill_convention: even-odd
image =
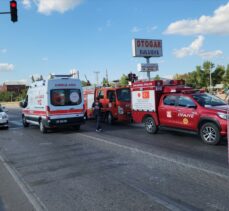
[(105, 122), (130, 122), (131, 93), (130, 87), (83, 87), (85, 117), (93, 118), (92, 103), (99, 97), (102, 103), (102, 115)]

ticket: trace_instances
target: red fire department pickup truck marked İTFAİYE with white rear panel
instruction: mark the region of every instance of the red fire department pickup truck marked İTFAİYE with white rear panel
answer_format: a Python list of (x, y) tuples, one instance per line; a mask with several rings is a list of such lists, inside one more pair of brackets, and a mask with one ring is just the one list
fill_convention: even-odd
[(204, 91), (185, 86), (183, 80), (137, 81), (132, 84), (132, 117), (146, 132), (159, 128), (198, 134), (216, 145), (227, 135), (228, 105)]

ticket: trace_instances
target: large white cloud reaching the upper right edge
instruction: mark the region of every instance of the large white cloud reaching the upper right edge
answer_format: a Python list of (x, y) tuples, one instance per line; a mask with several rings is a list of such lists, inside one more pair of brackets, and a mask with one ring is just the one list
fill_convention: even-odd
[(220, 6), (212, 16), (202, 15), (199, 19), (178, 20), (171, 23), (165, 34), (193, 35), (193, 34), (229, 34), (229, 2)]

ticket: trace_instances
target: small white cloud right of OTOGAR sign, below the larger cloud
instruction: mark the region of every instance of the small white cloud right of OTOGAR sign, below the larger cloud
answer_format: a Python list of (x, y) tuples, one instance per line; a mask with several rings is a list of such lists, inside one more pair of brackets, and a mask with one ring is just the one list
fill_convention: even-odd
[(196, 55), (196, 56), (200, 56), (203, 59), (211, 59), (223, 55), (223, 52), (221, 50), (215, 50), (215, 51), (203, 50), (202, 49), (203, 43), (204, 43), (204, 37), (202, 35), (199, 35), (189, 46), (183, 47), (178, 50), (175, 49), (173, 51), (173, 54), (177, 58)]

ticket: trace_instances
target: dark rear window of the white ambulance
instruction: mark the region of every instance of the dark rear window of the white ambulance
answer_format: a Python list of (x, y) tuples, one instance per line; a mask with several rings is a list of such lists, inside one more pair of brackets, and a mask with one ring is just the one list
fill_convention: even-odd
[(54, 106), (79, 105), (82, 102), (79, 89), (51, 90), (51, 104)]

